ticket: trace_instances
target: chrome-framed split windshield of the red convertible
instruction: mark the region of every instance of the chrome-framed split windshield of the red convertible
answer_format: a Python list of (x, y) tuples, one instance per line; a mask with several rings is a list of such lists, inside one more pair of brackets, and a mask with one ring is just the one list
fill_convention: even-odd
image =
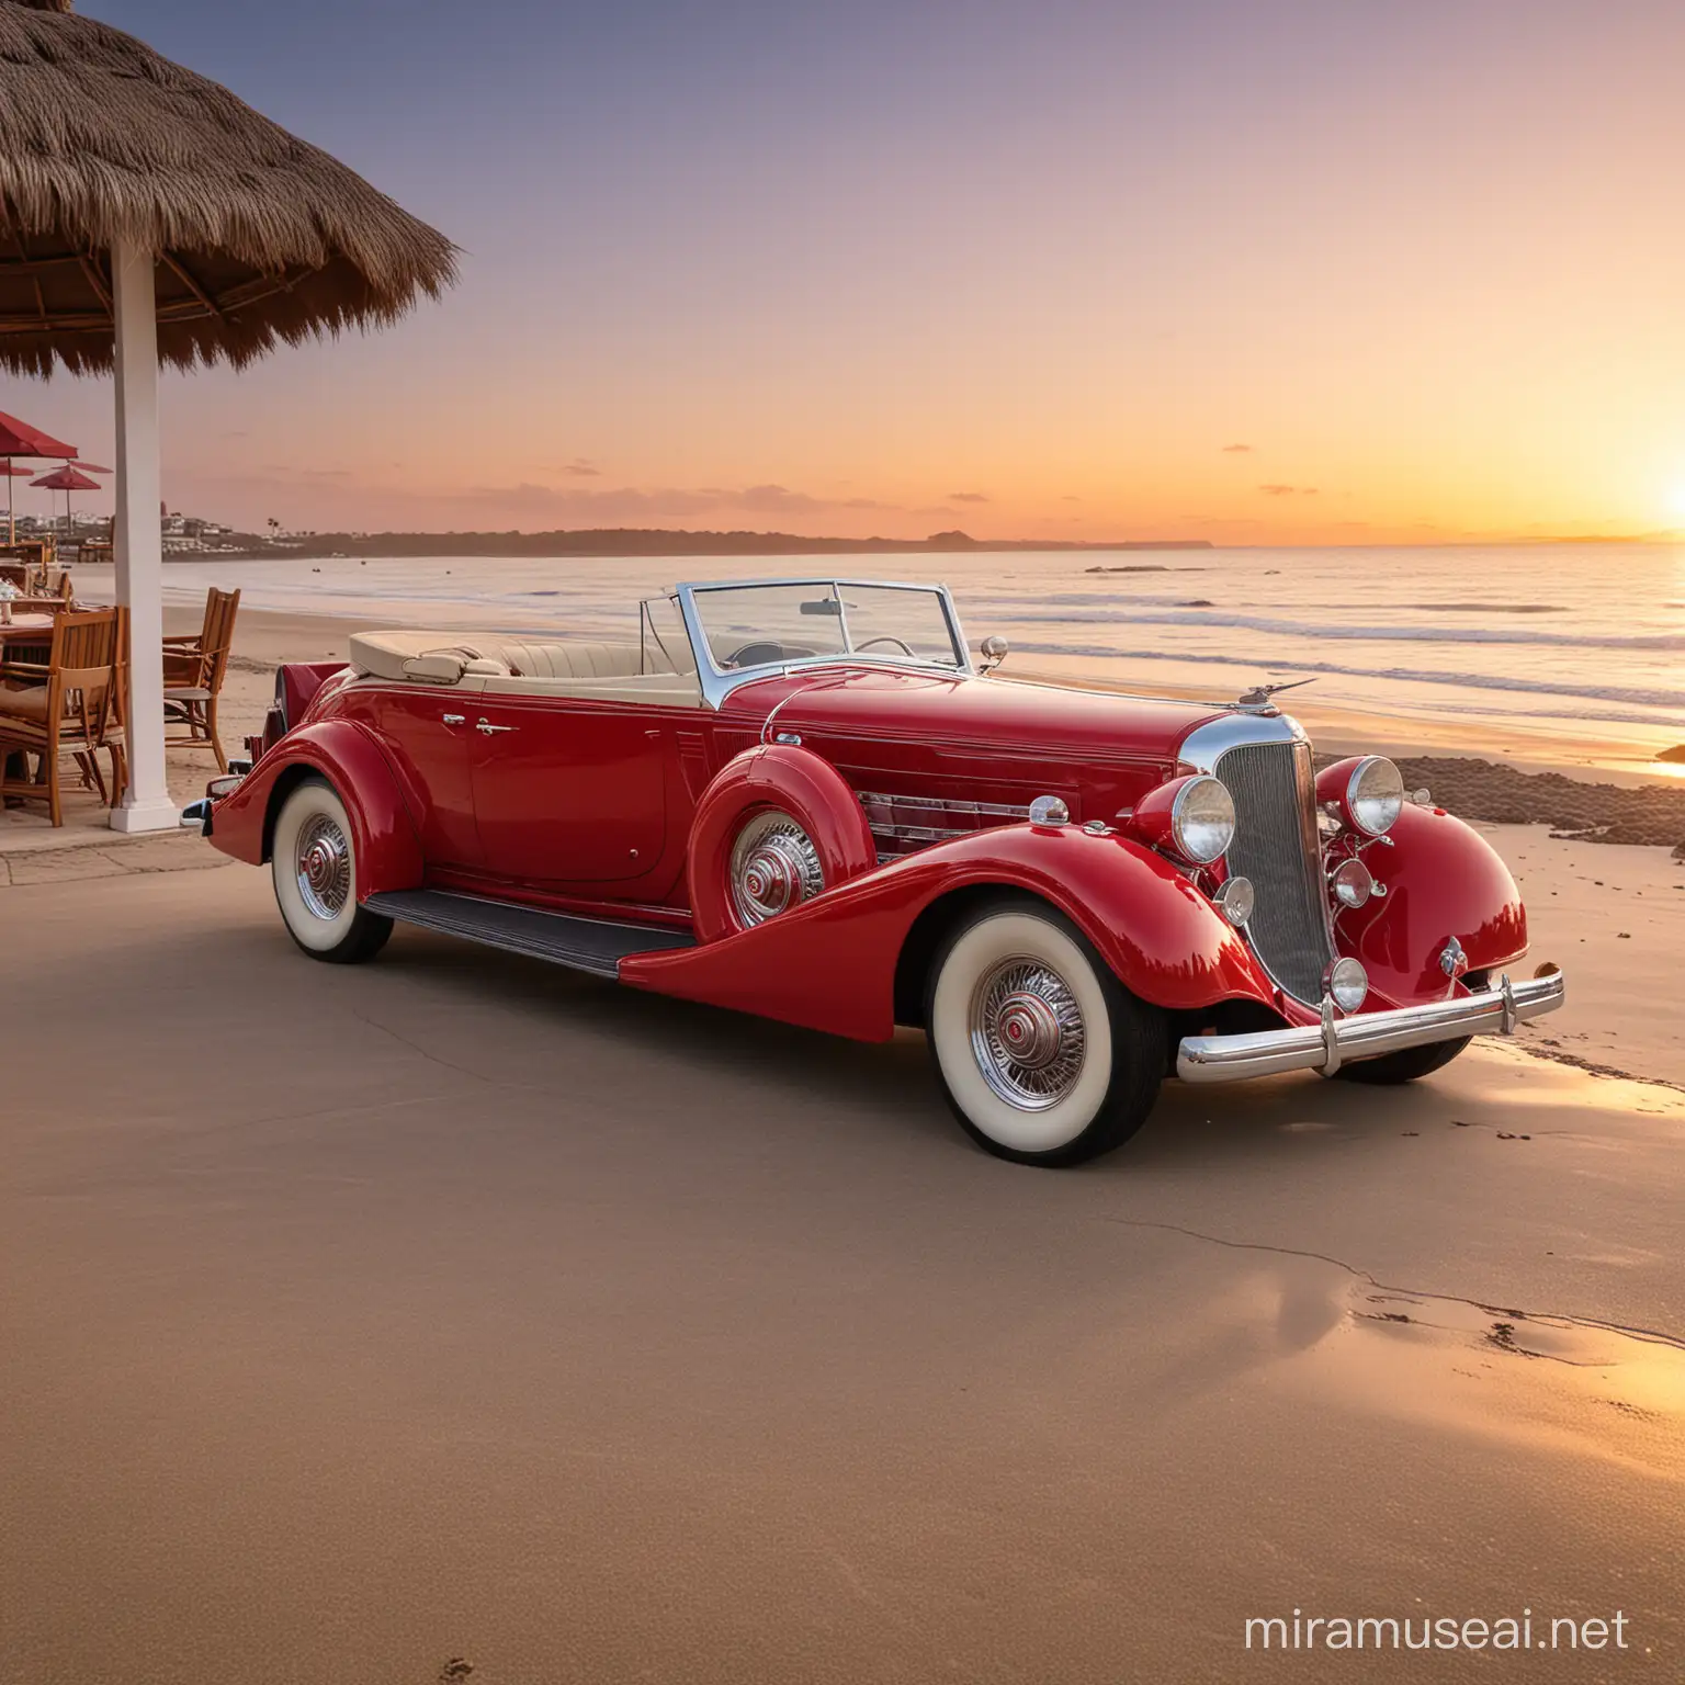
[(964, 666), (935, 586), (709, 585), (698, 586), (693, 602), (719, 672), (826, 655)]

